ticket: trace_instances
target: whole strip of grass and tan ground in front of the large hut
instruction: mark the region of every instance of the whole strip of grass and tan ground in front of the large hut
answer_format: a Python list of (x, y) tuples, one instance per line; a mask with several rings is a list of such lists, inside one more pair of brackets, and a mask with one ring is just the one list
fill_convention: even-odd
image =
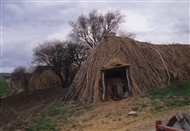
[[(130, 129), (135, 121), (138, 121), (136, 123), (138, 126), (139, 123), (145, 122), (144, 119), (148, 121), (148, 118), (150, 118), (148, 123), (152, 124), (151, 122), (157, 119), (164, 119), (163, 114), (163, 116), (170, 117), (171, 114), (174, 114), (173, 112), (180, 110), (179, 108), (186, 108), (186, 106), (190, 105), (189, 94), (190, 80), (186, 80), (174, 82), (169, 87), (148, 90), (142, 96), (117, 102), (99, 103), (99, 105), (83, 105), (77, 102), (69, 103), (57, 100), (43, 110), (40, 119), (33, 120), (34, 125), (27, 130)], [(131, 110), (137, 111), (138, 115), (134, 117), (125, 115)], [(169, 115), (169, 113), (171, 114)], [(106, 124), (108, 125), (105, 126)], [(154, 127), (154, 123), (151, 127)], [(133, 130), (130, 129), (130, 131)]]

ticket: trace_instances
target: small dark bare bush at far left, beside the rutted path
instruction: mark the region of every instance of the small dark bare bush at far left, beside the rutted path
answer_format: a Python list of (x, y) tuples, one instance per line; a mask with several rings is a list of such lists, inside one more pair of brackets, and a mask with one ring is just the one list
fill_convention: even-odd
[(22, 88), (27, 91), (28, 90), (28, 82), (31, 77), (31, 73), (27, 71), (26, 67), (18, 66), (12, 72), (12, 81), (19, 85), (21, 84)]

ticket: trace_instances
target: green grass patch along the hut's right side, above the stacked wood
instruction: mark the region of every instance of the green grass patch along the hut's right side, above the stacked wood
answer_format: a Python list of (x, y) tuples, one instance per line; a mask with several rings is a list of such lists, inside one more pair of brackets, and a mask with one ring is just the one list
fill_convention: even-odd
[(174, 82), (170, 87), (147, 91), (155, 110), (165, 107), (180, 107), (190, 104), (190, 80)]

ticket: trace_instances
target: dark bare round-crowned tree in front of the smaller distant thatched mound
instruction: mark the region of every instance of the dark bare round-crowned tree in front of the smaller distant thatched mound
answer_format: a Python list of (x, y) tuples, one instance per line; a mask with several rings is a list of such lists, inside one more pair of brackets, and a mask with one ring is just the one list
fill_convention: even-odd
[[(71, 62), (66, 59), (66, 45), (59, 40), (46, 41), (33, 50), (33, 63), (46, 65), (59, 77), (62, 88), (68, 84), (69, 66)], [(65, 80), (62, 76), (65, 75)]]

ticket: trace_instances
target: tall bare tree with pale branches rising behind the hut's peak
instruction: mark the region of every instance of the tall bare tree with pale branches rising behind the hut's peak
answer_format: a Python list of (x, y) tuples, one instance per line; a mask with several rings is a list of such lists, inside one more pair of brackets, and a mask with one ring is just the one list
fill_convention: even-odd
[(92, 10), (88, 16), (80, 15), (76, 21), (69, 21), (72, 31), (69, 37), (86, 43), (91, 49), (106, 36), (115, 36), (124, 15), (119, 10), (108, 11), (105, 15)]

